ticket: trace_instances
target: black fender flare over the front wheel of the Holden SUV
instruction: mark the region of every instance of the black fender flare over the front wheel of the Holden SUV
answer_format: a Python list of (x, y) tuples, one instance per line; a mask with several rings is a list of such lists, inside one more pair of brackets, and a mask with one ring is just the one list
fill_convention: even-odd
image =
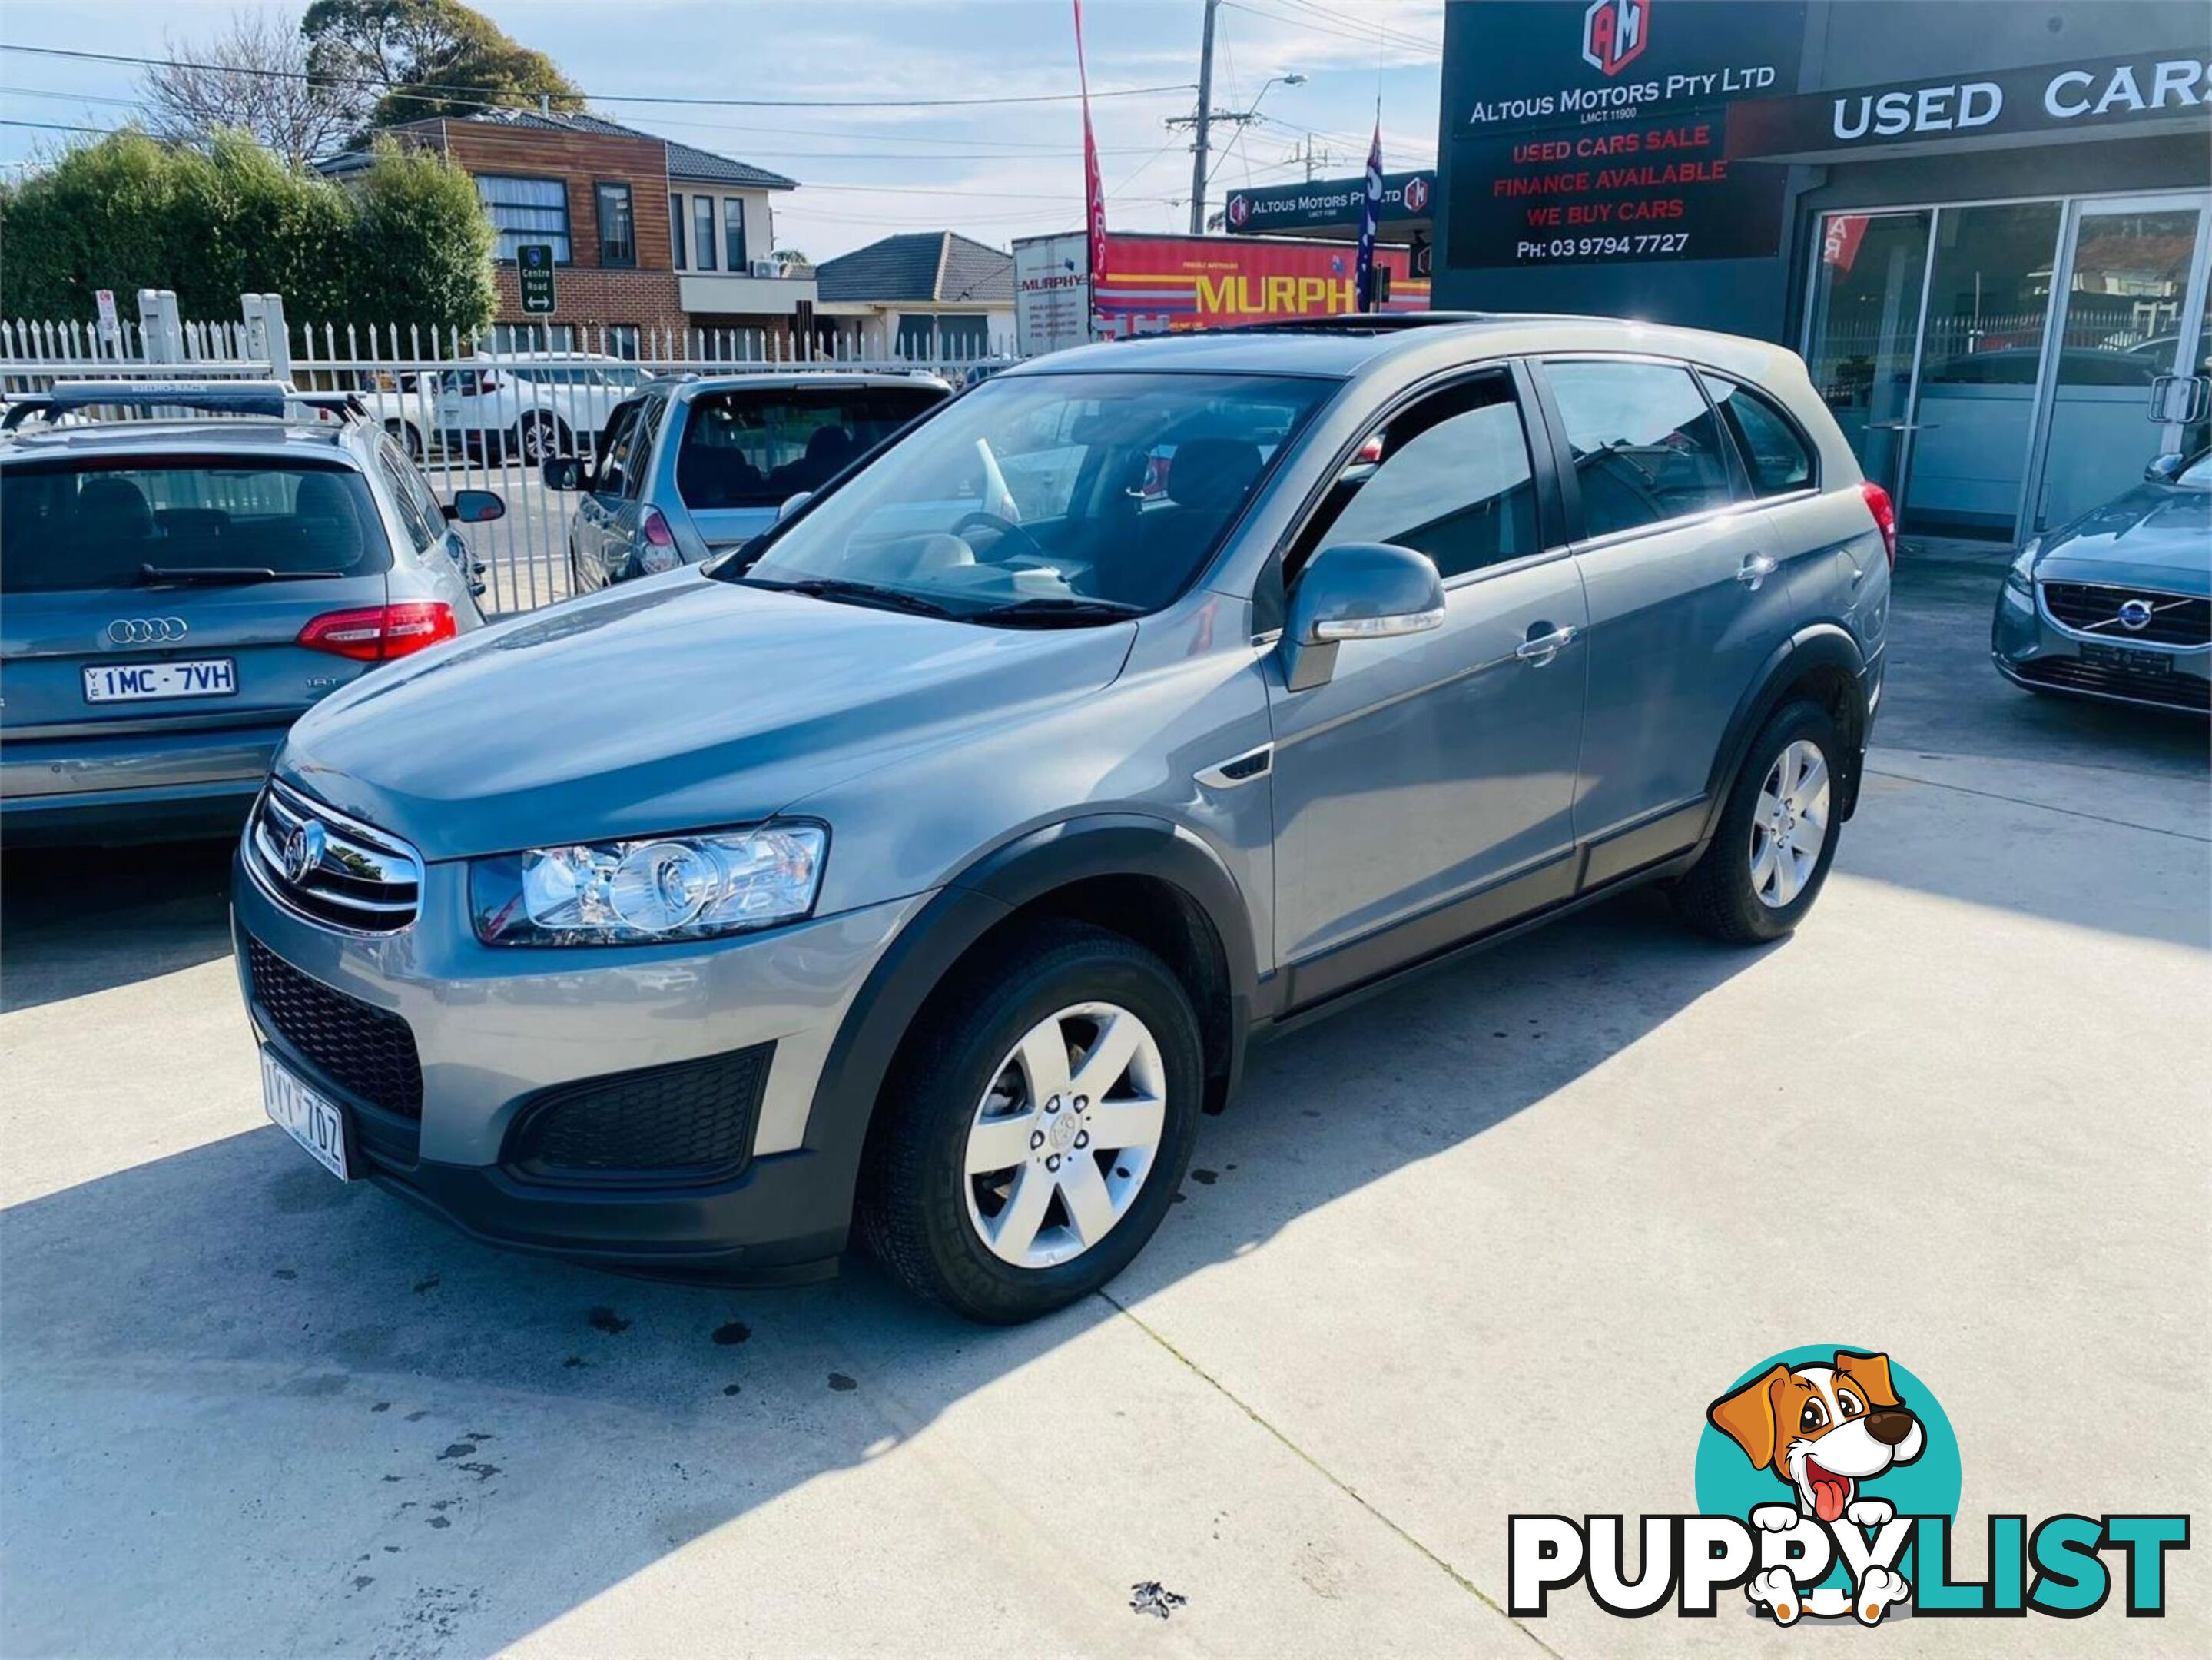
[(876, 1100), (929, 994), (969, 947), (1022, 905), (1093, 876), (1155, 876), (1179, 888), (1210, 923), (1228, 969), (1228, 1007), (1219, 1011), (1225, 1065), (1208, 1078), (1208, 1107), (1237, 1087), (1259, 969), (1252, 919), (1228, 865), (1183, 826), (1144, 812), (1097, 812), (1042, 826), (951, 876), (898, 930), (854, 994), (807, 1107), (805, 1147), (823, 1160), (836, 1195), (836, 1213), (825, 1226), (852, 1226)]

